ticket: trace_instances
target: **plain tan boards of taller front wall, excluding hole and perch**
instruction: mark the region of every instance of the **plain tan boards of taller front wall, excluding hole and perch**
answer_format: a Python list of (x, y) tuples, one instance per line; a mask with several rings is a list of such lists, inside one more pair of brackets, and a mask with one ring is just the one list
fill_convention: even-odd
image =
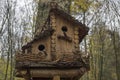
[(62, 54), (73, 54), (72, 51), (74, 49), (74, 26), (69, 23), (69, 21), (65, 20), (64, 18), (62, 18), (61, 16), (59, 15), (56, 15), (56, 34), (57, 36), (61, 35), (61, 36), (64, 36), (63, 34), (63, 31), (61, 30), (61, 28), (63, 26), (66, 26), (67, 27), (67, 32), (66, 32), (66, 35), (68, 37), (70, 37), (72, 39), (72, 42), (68, 42), (66, 40), (62, 40), (62, 39), (58, 39), (57, 38), (57, 54), (58, 56), (59, 55), (62, 55)]

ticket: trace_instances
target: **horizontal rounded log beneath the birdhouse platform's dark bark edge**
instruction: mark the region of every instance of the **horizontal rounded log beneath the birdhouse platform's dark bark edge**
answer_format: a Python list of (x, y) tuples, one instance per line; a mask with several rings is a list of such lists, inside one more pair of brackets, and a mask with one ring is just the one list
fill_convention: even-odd
[[(85, 69), (85, 68), (84, 68)], [(70, 78), (83, 75), (86, 71), (80, 69), (31, 69), (31, 76), (32, 77), (44, 77), (44, 78), (51, 78), (53, 76), (59, 75), (63, 78)]]

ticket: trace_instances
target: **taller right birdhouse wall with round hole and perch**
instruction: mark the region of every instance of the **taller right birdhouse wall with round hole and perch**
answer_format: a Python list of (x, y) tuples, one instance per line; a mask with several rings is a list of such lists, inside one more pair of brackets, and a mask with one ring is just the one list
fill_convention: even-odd
[(73, 55), (73, 51), (79, 49), (78, 27), (59, 15), (55, 17), (57, 56)]

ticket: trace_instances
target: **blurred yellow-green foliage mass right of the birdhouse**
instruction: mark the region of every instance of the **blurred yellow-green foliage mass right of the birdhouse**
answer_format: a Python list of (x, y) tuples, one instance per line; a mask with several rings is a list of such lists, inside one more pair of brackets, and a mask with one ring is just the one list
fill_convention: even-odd
[[(89, 53), (91, 54), (90, 66), (91, 69), (88, 74), (85, 74), (81, 80), (117, 80), (117, 73), (113, 44), (113, 33), (116, 34), (115, 46), (119, 46), (119, 33), (113, 32), (106, 28), (105, 25), (98, 25), (92, 29), (92, 33), (89, 36)], [(117, 56), (120, 55), (119, 49), (117, 50)]]

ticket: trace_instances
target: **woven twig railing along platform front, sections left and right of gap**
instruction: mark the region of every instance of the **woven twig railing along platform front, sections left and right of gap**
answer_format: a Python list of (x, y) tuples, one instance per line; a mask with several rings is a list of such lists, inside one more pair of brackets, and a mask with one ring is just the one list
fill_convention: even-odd
[[(57, 57), (57, 61), (64, 61), (64, 62), (81, 61), (83, 59), (80, 54), (73, 54), (71, 52), (66, 52), (66, 53), (61, 52), (61, 54), (58, 56), (59, 57)], [(45, 62), (47, 61), (45, 55), (39, 55), (35, 53), (27, 53), (27, 54), (17, 53), (15, 55), (15, 60), (16, 62), (25, 62), (25, 61)], [(84, 60), (86, 61), (86, 58)]]

